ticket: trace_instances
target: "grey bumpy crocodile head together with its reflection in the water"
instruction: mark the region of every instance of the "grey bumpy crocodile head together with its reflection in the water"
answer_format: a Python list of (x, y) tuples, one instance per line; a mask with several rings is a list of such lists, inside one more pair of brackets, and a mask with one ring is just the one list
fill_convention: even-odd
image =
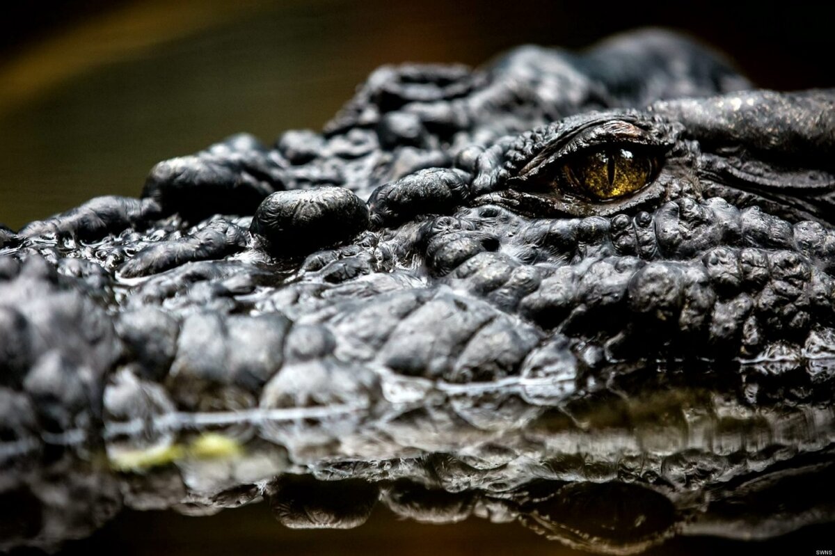
[(832, 519), (835, 94), (745, 87), (664, 33), (381, 68), (0, 229), (0, 544), (265, 497), (611, 553)]

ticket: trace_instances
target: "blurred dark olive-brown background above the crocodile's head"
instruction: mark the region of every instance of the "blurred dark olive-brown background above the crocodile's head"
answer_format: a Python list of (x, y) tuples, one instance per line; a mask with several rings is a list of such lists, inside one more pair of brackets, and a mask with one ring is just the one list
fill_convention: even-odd
[(0, 223), (139, 195), (155, 162), (238, 131), (319, 129), (382, 63), (477, 65), (519, 43), (582, 48), (653, 25), (714, 45), (763, 87), (828, 87), (831, 24), (793, 0), (4, 3)]

